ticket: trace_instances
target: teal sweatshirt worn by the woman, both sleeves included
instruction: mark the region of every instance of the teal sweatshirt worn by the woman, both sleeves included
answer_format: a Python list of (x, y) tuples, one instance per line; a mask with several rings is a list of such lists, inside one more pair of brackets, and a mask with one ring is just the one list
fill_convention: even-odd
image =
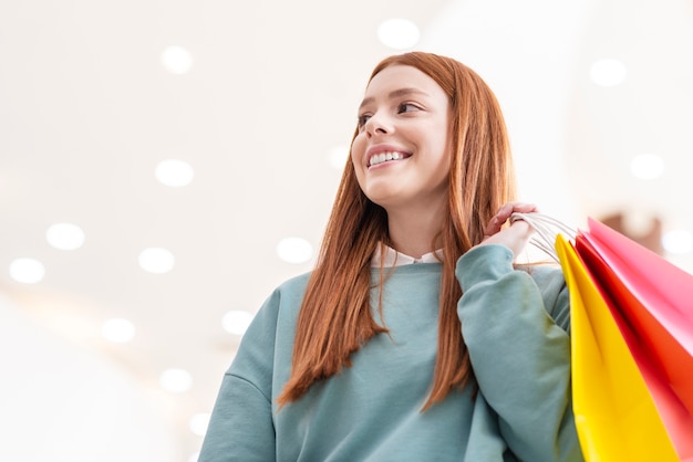
[[(373, 269), (374, 283), (379, 273)], [(224, 377), (199, 461), (581, 461), (562, 274), (514, 269), (500, 245), (473, 249), (456, 266), (478, 392), (467, 386), (422, 412), (436, 357), (441, 274), (437, 263), (396, 266), (383, 292), (390, 335), (373, 337), (352, 367), (278, 411), (309, 274), (283, 283)], [(371, 304), (377, 316), (377, 290)]]

